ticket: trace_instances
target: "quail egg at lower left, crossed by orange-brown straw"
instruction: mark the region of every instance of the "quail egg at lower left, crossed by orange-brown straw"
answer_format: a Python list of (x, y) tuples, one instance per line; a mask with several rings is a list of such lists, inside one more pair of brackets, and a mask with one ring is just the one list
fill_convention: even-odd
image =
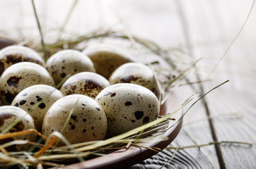
[[(10, 132), (20, 132), (23, 130), (35, 129), (35, 124), (33, 118), (25, 112), (23, 109), (15, 106), (1, 106), (0, 107), (0, 132), (3, 132), (6, 127), (12, 125), (16, 120), (21, 119), (16, 125), (14, 125), (7, 133)], [(30, 142), (35, 142), (36, 135), (33, 133), (24, 134), (8, 139), (0, 139), (0, 144), (11, 142), (14, 140), (29, 140)], [(8, 146), (9, 151), (25, 151), (30, 147), (29, 144), (16, 144), (13, 146)]]

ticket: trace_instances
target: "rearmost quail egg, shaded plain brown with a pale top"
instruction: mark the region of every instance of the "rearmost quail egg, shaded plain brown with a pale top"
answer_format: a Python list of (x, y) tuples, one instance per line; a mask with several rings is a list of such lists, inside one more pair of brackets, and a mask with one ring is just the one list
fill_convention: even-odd
[(120, 65), (132, 62), (127, 52), (110, 45), (89, 47), (83, 51), (93, 61), (96, 73), (108, 79), (111, 73)]

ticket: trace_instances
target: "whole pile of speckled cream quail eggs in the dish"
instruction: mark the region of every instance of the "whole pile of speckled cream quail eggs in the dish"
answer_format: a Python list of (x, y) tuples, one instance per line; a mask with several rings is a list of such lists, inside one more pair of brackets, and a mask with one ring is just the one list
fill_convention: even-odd
[[(33, 49), (8, 46), (0, 51), (0, 76), (0, 132), (19, 120), (8, 132), (32, 128), (49, 136), (57, 131), (75, 144), (149, 123), (160, 108), (151, 68), (114, 46), (63, 50), (46, 62)], [(15, 139), (37, 138), (26, 134), (0, 144)]]

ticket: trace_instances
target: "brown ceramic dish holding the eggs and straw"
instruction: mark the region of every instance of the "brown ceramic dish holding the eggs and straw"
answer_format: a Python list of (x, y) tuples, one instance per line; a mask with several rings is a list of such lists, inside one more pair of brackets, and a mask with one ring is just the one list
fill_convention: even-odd
[[(2, 39), (0, 37), (0, 49), (12, 44), (15, 44), (15, 42), (7, 39)], [(175, 94), (170, 95), (166, 103), (161, 107), (161, 115), (171, 113), (172, 111), (174, 111), (175, 108), (177, 108), (177, 106), (177, 97), (175, 96)], [(180, 129), (182, 127), (182, 120), (180, 120), (178, 123), (177, 120), (179, 120), (181, 117), (182, 112), (178, 111), (172, 117), (176, 120), (170, 120), (169, 127), (174, 125), (175, 123), (176, 124), (173, 127), (171, 127), (170, 130), (163, 134), (163, 137), (168, 137), (168, 140), (161, 142), (141, 143), (141, 145), (165, 149), (166, 146), (173, 142), (175, 137), (177, 137), (178, 133), (180, 132)], [(158, 133), (156, 132), (155, 134)], [(129, 167), (130, 165), (139, 163), (140, 161), (144, 161), (146, 158), (150, 158), (155, 154), (157, 154), (157, 152), (151, 149), (130, 146), (128, 149), (119, 149), (105, 156), (92, 158), (91, 160), (88, 161), (74, 163), (71, 165), (65, 165), (64, 168), (126, 168)]]

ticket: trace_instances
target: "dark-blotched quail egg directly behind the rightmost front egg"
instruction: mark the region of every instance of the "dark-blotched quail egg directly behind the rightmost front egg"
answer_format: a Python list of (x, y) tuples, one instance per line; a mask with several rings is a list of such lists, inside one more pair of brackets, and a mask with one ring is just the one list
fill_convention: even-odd
[(124, 63), (117, 68), (109, 79), (110, 84), (133, 83), (150, 89), (156, 96), (160, 95), (153, 70), (142, 63)]

